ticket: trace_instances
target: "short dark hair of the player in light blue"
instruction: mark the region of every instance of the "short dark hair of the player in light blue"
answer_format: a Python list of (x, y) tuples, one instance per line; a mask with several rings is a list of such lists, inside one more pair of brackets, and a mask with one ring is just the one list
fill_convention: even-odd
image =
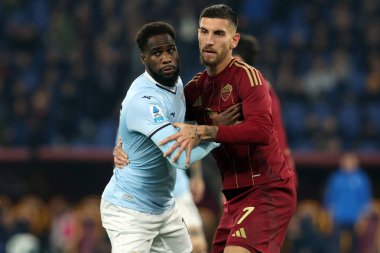
[(161, 34), (169, 34), (175, 40), (174, 28), (166, 22), (156, 21), (147, 23), (141, 27), (136, 36), (136, 43), (140, 51), (144, 51), (150, 37)]

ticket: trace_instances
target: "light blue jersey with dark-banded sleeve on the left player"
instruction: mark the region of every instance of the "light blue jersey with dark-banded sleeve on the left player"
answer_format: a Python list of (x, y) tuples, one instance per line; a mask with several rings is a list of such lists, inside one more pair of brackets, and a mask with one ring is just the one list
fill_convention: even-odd
[[(177, 163), (163, 157), (163, 151), (175, 142), (157, 146), (177, 130), (171, 123), (183, 122), (185, 97), (180, 78), (174, 87), (157, 84), (147, 73), (131, 85), (122, 103), (119, 136), (130, 163), (123, 169), (114, 169), (102, 197), (107, 201), (147, 213), (163, 213), (174, 204), (172, 191), (176, 169), (185, 169), (185, 152)], [(193, 149), (191, 162), (210, 152), (218, 144), (201, 143)]]

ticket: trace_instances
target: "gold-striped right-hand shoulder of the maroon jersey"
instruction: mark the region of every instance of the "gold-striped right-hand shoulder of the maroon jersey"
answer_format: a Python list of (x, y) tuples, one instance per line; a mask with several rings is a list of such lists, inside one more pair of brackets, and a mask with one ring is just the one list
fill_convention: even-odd
[(229, 67), (232, 68), (236, 76), (241, 78), (247, 78), (251, 86), (261, 86), (265, 80), (261, 75), (260, 71), (255, 67), (240, 61), (238, 59), (233, 59)]

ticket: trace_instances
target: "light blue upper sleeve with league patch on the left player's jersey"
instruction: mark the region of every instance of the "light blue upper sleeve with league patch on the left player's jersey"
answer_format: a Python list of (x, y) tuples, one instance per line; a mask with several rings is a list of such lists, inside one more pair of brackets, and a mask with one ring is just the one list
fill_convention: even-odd
[(170, 124), (163, 104), (156, 98), (136, 98), (126, 111), (127, 127), (151, 137), (159, 129)]

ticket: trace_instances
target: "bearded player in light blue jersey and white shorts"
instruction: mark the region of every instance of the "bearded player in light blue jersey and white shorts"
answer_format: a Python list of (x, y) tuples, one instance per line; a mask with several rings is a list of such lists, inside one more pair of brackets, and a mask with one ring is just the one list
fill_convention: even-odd
[[(158, 146), (177, 132), (173, 122), (185, 116), (174, 29), (153, 22), (138, 32), (145, 72), (137, 77), (122, 102), (119, 136), (130, 163), (115, 169), (101, 202), (103, 227), (112, 252), (191, 252), (190, 237), (172, 197), (176, 168), (186, 169), (218, 145), (193, 143), (191, 155), (165, 158), (171, 144)], [(128, 140), (128, 141), (127, 141)], [(193, 141), (199, 138), (193, 136)]]

